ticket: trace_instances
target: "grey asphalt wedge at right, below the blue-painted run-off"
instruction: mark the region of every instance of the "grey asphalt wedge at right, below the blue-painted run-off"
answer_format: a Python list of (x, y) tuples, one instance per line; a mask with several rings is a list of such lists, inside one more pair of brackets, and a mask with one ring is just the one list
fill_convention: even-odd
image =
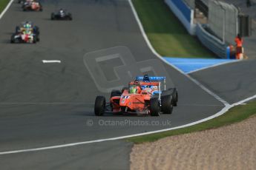
[(256, 60), (226, 64), (191, 73), (212, 92), (228, 103), (236, 103), (256, 94)]

